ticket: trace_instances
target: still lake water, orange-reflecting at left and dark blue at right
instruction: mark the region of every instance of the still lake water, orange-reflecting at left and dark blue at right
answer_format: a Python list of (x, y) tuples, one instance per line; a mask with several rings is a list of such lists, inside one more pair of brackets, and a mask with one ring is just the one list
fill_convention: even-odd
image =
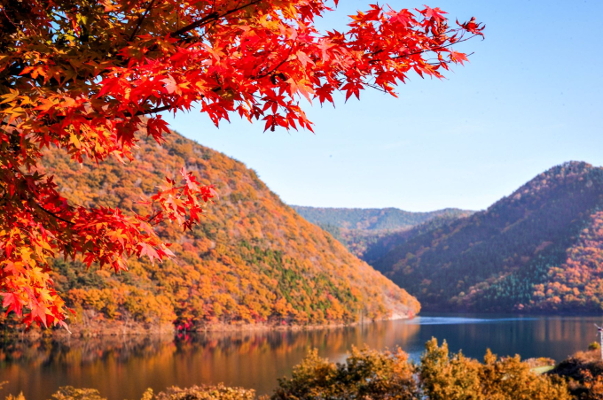
[(107, 337), (67, 342), (0, 342), (0, 398), (20, 391), (27, 400), (50, 398), (60, 386), (98, 388), (109, 400), (137, 400), (145, 388), (223, 382), (270, 394), (310, 348), (342, 361), (352, 346), (401, 347), (418, 359), (432, 336), (451, 351), (482, 358), (486, 349), (521, 358), (560, 361), (597, 340), (601, 317), (421, 315), (358, 327), (302, 332), (240, 332), (159, 337)]

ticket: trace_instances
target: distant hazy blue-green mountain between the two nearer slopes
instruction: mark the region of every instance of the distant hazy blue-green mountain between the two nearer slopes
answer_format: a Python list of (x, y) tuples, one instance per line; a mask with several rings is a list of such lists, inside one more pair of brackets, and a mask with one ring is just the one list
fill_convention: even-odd
[(342, 242), (357, 257), (370, 263), (394, 244), (412, 235), (473, 212), (447, 208), (435, 212), (405, 212), (397, 208), (328, 208), (293, 205), (303, 218)]

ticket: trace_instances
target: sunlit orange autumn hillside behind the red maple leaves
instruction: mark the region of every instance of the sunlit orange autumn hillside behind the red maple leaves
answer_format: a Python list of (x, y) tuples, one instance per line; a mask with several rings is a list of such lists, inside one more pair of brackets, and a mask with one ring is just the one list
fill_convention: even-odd
[(135, 158), (81, 167), (51, 150), (43, 172), (56, 175), (74, 204), (136, 210), (182, 166), (220, 197), (192, 232), (159, 228), (175, 261), (130, 259), (129, 272), (116, 275), (57, 260), (55, 285), (80, 322), (324, 324), (419, 312), (414, 297), (302, 219), (242, 163), (175, 133), (162, 147), (139, 142)]

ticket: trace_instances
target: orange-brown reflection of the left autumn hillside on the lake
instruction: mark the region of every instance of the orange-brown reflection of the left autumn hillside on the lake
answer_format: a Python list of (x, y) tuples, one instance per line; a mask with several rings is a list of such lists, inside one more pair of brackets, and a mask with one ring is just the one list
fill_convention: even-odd
[(0, 344), (0, 393), (48, 398), (59, 386), (98, 388), (111, 399), (139, 398), (145, 388), (224, 382), (270, 393), (311, 348), (342, 361), (352, 345), (385, 349), (404, 343), (418, 325), (394, 322), (309, 331), (205, 333), (174, 339), (107, 336)]

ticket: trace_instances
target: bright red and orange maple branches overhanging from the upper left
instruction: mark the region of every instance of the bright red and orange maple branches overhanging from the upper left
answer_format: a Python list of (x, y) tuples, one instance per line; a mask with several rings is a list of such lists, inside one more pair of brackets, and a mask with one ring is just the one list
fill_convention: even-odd
[(137, 136), (161, 143), (158, 112), (196, 105), (217, 125), (232, 114), (266, 129), (311, 130), (300, 100), (333, 103), (364, 88), (395, 96), (408, 73), (442, 77), (482, 35), (437, 8), (371, 5), (346, 32), (321, 33), (322, 0), (0, 0), (0, 295), (29, 325), (63, 325), (67, 307), (48, 260), (127, 269), (173, 257), (153, 227), (200, 221), (215, 196), (184, 169), (143, 201), (148, 212), (69, 204), (37, 167), (44, 147), (75, 161), (129, 162)]

